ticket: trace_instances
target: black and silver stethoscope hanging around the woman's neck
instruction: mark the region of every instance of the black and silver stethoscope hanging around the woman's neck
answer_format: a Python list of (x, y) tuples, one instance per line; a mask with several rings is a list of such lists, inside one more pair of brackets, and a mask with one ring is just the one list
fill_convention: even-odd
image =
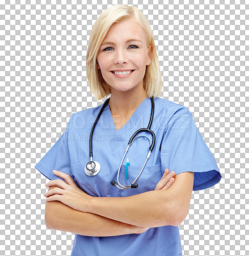
[[(144, 166), (146, 165), (147, 163), (147, 160), (149, 159), (149, 157), (151, 156), (151, 152), (155, 146), (155, 140), (156, 140), (156, 136), (155, 136), (155, 133), (153, 131), (151, 131), (151, 124), (153, 122), (153, 117), (154, 117), (154, 109), (155, 109), (155, 103), (154, 103), (154, 98), (151, 97), (151, 117), (149, 119), (149, 124), (147, 126), (147, 128), (141, 128), (137, 131), (134, 132), (134, 134), (132, 135), (132, 137), (130, 138), (130, 141), (128, 142), (128, 146), (124, 152), (124, 156), (121, 160), (121, 163), (119, 165), (119, 170), (117, 171), (117, 182), (115, 180), (112, 180), (110, 182), (110, 184), (112, 184), (112, 186), (114, 187), (117, 187), (119, 189), (128, 189), (128, 188), (137, 188), (138, 187), (138, 184), (135, 183), (137, 181), (137, 179), (139, 179), (141, 173), (142, 173), (142, 170), (144, 170)], [(102, 114), (103, 112), (103, 109), (105, 109), (105, 106), (107, 106), (107, 104), (109, 103), (109, 100), (110, 98), (108, 98), (107, 100), (105, 100), (102, 108), (100, 109), (100, 112), (98, 113), (98, 116), (96, 117), (96, 120), (93, 124), (93, 127), (91, 129), (91, 133), (90, 133), (90, 138), (89, 138), (89, 151), (90, 151), (90, 161), (86, 163), (86, 166), (85, 166), (85, 173), (88, 175), (88, 176), (95, 176), (97, 175), (99, 172), (100, 172), (100, 163), (98, 163), (97, 161), (93, 161), (93, 131), (94, 131), (94, 128), (98, 122), (98, 119), (100, 118), (100, 115)], [(139, 138), (140, 136), (137, 136), (137, 134), (139, 134), (139, 132), (149, 132), (151, 135), (152, 135), (152, 143), (151, 143), (151, 140), (149, 140), (149, 138), (145, 135), (140, 135), (140, 136), (144, 136), (146, 137), (149, 142), (150, 142), (150, 147), (149, 147), (149, 153), (147, 154), (147, 157), (146, 157), (146, 160), (144, 161), (144, 164), (139, 172), (139, 175), (137, 175), (136, 179), (133, 180), (132, 184), (130, 184), (130, 186), (123, 186), (120, 182), (119, 182), (119, 173), (120, 173), (120, 169), (121, 169), (121, 165), (124, 161), (124, 157), (126, 156), (127, 152), (128, 152), (128, 149), (130, 147), (130, 145), (132, 144), (132, 142)], [(137, 137), (135, 137), (137, 136)], [(117, 183), (119, 185), (117, 185)]]

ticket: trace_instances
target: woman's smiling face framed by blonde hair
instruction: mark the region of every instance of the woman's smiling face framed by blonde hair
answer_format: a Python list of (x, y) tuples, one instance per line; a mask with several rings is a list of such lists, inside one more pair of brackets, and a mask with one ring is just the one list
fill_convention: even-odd
[[(97, 67), (111, 92), (126, 92), (137, 86), (143, 90), (146, 65), (151, 63), (151, 56), (144, 31), (135, 20), (128, 19), (110, 27), (98, 51)], [(115, 71), (132, 72), (114, 74)]]

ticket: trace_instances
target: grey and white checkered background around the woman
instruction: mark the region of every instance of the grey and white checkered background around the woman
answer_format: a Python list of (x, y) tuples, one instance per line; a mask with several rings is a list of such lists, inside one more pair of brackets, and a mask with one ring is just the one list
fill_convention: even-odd
[(179, 226), (183, 255), (249, 255), (247, 0), (1, 0), (0, 255), (71, 253), (74, 234), (45, 225), (48, 180), (34, 165), (72, 113), (102, 104), (89, 92), (86, 50), (94, 21), (112, 4), (146, 15), (161, 96), (190, 109), (222, 173), (192, 194)]

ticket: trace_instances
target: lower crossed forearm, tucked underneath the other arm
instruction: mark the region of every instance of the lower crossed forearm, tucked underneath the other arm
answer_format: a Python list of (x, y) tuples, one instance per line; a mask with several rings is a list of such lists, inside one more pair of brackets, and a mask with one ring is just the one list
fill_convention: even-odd
[(142, 228), (110, 220), (103, 216), (80, 212), (61, 202), (47, 202), (45, 221), (48, 228), (82, 236), (120, 236), (139, 234)]

